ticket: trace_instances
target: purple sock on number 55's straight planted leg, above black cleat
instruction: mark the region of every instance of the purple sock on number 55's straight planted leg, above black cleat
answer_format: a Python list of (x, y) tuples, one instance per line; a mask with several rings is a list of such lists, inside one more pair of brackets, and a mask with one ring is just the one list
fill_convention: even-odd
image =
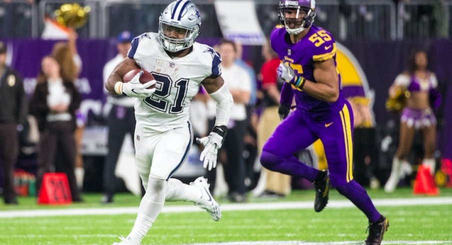
[(343, 196), (347, 197), (357, 208), (359, 208), (369, 219), (370, 222), (375, 222), (380, 217), (380, 213), (367, 195), (367, 192), (361, 185), (351, 180), (348, 183), (336, 187), (337, 191)]

